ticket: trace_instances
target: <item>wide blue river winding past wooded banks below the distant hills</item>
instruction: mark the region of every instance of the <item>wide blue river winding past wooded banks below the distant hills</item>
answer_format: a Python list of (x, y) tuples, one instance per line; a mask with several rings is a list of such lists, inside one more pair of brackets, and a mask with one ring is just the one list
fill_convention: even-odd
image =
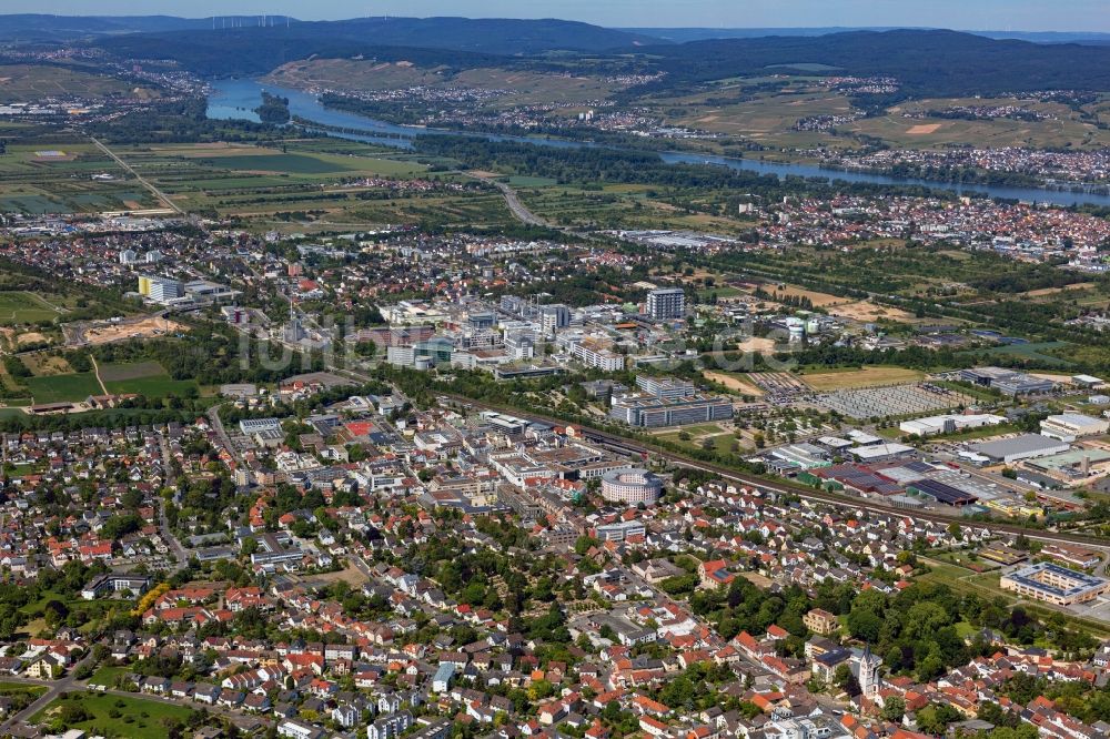
[[(325, 126), (349, 130), (350, 132), (332, 134), (346, 139), (370, 141), (386, 146), (407, 149), (412, 145), (412, 140), (416, 136), (440, 133), (457, 135), (460, 133), (458, 131), (448, 131), (443, 129), (397, 125), (395, 123), (387, 123), (385, 121), (357, 115), (355, 113), (331, 110), (320, 104), (320, 101), (313, 94), (287, 88), (265, 85), (253, 80), (220, 80), (213, 82), (212, 93), (209, 95), (208, 115), (209, 118), (220, 120), (242, 119), (258, 121), (259, 117), (254, 112), (254, 109), (262, 103), (263, 90), (282, 95), (283, 98), (289, 98), (290, 112), (297, 118), (302, 118), (306, 121), (313, 121)], [(360, 133), (352, 133), (354, 131)], [(496, 141), (522, 141), (543, 146), (584, 148), (594, 145), (589, 143), (563, 141), (558, 139), (506, 136), (485, 133), (466, 133), (465, 135), (493, 139)], [(774, 174), (779, 178), (797, 175), (803, 178), (844, 180), (847, 182), (922, 185), (935, 190), (986, 193), (991, 198), (1051, 203), (1053, 205), (1077, 205), (1080, 203), (1110, 205), (1110, 194), (1100, 194), (1094, 192), (1071, 192), (1069, 190), (1049, 190), (1041, 188), (1005, 188), (980, 184), (961, 185), (955, 182), (942, 182), (937, 180), (894, 178), (866, 172), (840, 172), (837, 170), (821, 169), (811, 164), (787, 164), (781, 162), (760, 161), (756, 159), (716, 156), (712, 154), (660, 152), (659, 156), (667, 162), (719, 164), (735, 170), (758, 172), (760, 174)]]

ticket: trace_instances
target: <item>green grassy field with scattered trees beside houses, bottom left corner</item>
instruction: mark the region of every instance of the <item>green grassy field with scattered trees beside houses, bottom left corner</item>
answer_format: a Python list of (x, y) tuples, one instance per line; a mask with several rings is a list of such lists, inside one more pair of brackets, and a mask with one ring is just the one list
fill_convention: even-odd
[[(80, 709), (80, 712), (78, 712)], [(73, 721), (71, 717), (85, 716)], [(184, 722), (192, 709), (147, 698), (131, 696), (71, 692), (52, 701), (31, 717), (32, 723), (58, 725), (65, 729), (84, 729), (105, 737), (133, 737), (134, 739), (162, 739), (167, 736), (167, 720)]]

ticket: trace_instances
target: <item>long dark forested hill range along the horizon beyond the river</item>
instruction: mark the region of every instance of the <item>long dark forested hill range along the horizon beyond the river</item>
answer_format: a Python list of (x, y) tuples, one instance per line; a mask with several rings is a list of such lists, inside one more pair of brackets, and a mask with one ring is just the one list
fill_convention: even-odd
[[(815, 73), (897, 78), (896, 98), (990, 95), (1050, 89), (1110, 90), (1110, 47), (995, 40), (956, 31), (850, 31), (668, 43), (561, 20), (366, 18), (128, 33), (91, 41), (124, 58), (172, 59), (206, 75), (264, 74), (323, 58), (407, 60), (453, 68), (522, 63), (552, 51), (608, 57), (667, 75), (643, 92), (678, 90), (739, 74)], [(423, 51), (422, 51), (423, 50)], [(509, 62), (508, 60), (514, 60)], [(573, 65), (563, 54), (559, 63)], [(797, 65), (797, 67), (795, 67)], [(875, 102), (882, 102), (876, 100)]]

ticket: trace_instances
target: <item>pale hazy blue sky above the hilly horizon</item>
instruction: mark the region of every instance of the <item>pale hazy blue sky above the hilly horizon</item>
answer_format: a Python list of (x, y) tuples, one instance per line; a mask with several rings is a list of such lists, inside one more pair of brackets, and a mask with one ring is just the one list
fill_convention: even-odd
[(1110, 31), (1107, 0), (3, 0), (4, 12), (566, 18), (604, 26), (928, 26)]

